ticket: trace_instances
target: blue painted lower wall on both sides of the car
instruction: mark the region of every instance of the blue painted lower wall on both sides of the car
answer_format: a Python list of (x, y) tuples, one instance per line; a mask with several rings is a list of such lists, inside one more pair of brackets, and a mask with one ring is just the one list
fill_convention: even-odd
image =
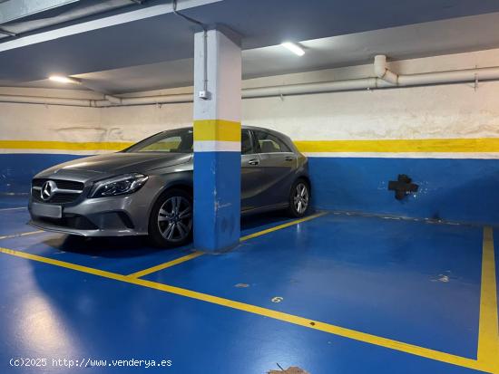
[[(82, 156), (0, 155), (0, 193), (28, 193), (38, 171)], [(499, 225), (499, 160), (459, 158), (308, 158), (321, 209), (442, 218)], [(395, 199), (388, 181), (406, 174), (416, 197)]]

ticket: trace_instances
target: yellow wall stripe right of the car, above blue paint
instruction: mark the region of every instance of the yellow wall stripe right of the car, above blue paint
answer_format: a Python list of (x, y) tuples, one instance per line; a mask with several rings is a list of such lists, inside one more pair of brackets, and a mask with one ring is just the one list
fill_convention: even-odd
[(499, 138), (298, 140), (301, 152), (499, 152)]

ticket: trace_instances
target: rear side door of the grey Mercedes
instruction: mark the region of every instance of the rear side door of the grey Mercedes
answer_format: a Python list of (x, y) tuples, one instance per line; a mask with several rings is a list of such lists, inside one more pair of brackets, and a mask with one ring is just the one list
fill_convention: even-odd
[(262, 206), (286, 205), (298, 165), (297, 155), (277, 136), (253, 130), (262, 168)]

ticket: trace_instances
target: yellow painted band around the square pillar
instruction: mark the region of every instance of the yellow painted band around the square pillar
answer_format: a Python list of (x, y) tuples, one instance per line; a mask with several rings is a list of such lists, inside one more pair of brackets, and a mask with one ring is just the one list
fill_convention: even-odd
[(194, 141), (240, 141), (240, 122), (232, 120), (194, 120)]

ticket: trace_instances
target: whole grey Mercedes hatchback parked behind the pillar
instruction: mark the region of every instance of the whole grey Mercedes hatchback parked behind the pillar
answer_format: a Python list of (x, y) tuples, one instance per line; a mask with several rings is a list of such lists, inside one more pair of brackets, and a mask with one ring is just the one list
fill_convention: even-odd
[[(117, 153), (79, 158), (34, 176), (30, 225), (69, 235), (149, 235), (184, 245), (192, 235), (193, 129), (171, 129)], [(286, 135), (243, 127), (241, 212), (310, 204), (308, 161)]]

